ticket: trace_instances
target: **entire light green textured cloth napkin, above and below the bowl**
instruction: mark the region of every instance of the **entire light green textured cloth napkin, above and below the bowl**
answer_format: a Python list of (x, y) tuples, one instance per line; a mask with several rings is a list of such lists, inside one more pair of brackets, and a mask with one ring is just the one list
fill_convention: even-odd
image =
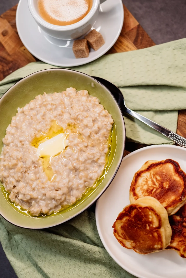
[[(102, 56), (73, 69), (116, 84), (129, 108), (176, 131), (178, 110), (186, 108), (185, 55), (186, 39), (181, 39)], [(18, 69), (0, 82), (0, 96), (24, 76), (47, 68), (54, 66), (37, 62)], [(129, 140), (146, 144), (172, 143), (137, 120), (125, 117), (125, 124)], [(90, 209), (45, 230), (19, 228), (1, 217), (0, 240), (19, 278), (134, 277), (121, 269), (104, 249), (95, 214)]]

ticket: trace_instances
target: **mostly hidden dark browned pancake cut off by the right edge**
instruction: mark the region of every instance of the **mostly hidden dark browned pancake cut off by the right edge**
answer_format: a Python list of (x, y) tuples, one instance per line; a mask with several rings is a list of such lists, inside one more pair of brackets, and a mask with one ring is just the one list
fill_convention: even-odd
[(169, 217), (172, 237), (167, 249), (174, 249), (182, 258), (186, 258), (186, 204)]

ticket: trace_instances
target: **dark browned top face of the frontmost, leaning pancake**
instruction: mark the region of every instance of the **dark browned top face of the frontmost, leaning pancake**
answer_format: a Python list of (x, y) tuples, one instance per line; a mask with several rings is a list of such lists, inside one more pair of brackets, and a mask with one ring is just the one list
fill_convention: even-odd
[(118, 215), (112, 227), (123, 247), (140, 254), (163, 249), (161, 217), (152, 207), (131, 204)]

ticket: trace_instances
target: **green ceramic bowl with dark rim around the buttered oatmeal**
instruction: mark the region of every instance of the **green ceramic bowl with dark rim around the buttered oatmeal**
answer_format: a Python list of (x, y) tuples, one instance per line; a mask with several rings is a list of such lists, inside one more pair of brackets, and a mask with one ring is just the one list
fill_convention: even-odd
[(112, 152), (106, 174), (97, 182), (96, 188), (87, 190), (80, 201), (65, 210), (44, 217), (31, 217), (23, 209), (15, 207), (8, 198), (9, 194), (1, 186), (0, 214), (14, 225), (41, 229), (61, 224), (78, 215), (90, 207), (106, 190), (122, 161), (125, 145), (125, 125), (121, 110), (110, 91), (89, 75), (70, 69), (58, 68), (46, 69), (26, 76), (13, 85), (0, 99), (0, 153), (6, 128), (11, 123), (12, 117), (16, 115), (18, 107), (25, 106), (39, 94), (61, 92), (68, 87), (74, 87), (76, 90), (85, 89), (90, 95), (97, 96), (104, 108), (112, 115), (114, 120)]

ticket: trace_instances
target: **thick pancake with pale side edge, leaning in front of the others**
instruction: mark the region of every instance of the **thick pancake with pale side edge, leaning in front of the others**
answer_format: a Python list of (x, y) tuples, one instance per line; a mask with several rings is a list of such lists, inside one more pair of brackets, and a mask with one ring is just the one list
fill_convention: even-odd
[(123, 247), (139, 254), (165, 249), (172, 235), (167, 211), (153, 197), (142, 197), (127, 205), (119, 213), (112, 228)]

